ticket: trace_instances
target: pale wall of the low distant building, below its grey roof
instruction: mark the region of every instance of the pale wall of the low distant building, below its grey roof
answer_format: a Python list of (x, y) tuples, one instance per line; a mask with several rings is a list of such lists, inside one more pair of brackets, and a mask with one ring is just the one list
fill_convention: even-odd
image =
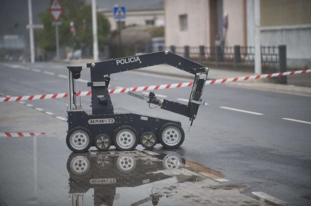
[[(104, 11), (103, 14), (108, 18), (111, 24), (111, 30), (118, 28), (117, 21), (114, 19), (112, 11)], [(155, 20), (156, 26), (164, 26), (164, 11), (150, 10), (150, 11), (126, 11), (125, 25), (146, 25), (146, 20)]]

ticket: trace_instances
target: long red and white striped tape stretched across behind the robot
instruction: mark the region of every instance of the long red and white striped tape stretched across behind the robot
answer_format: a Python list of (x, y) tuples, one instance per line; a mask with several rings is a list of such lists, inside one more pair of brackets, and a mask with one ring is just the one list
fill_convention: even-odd
[[(220, 84), (220, 83), (229, 83), (234, 81), (244, 81), (244, 80), (253, 80), (253, 79), (263, 79), (269, 77), (281, 77), (292, 74), (303, 74), (309, 73), (311, 69), (306, 70), (298, 70), (291, 72), (279, 72), (279, 73), (271, 73), (271, 74), (262, 74), (262, 75), (252, 75), (247, 77), (235, 77), (235, 78), (226, 78), (226, 79), (214, 79), (207, 80), (205, 85), (210, 84)], [(139, 86), (139, 87), (130, 87), (130, 88), (121, 88), (121, 89), (112, 89), (109, 90), (110, 94), (119, 94), (125, 93), (129, 90), (131, 91), (149, 91), (149, 90), (162, 90), (162, 89), (172, 89), (179, 87), (188, 87), (192, 86), (193, 82), (183, 82), (183, 83), (175, 83), (175, 84), (162, 84), (162, 85), (151, 85), (151, 86)], [(77, 92), (77, 96), (89, 96), (91, 95), (91, 91)], [(68, 96), (68, 93), (59, 93), (59, 94), (39, 94), (39, 95), (29, 95), (29, 96), (16, 96), (16, 97), (1, 97), (0, 102), (13, 102), (13, 101), (25, 101), (25, 100), (35, 100), (35, 99), (56, 99), (56, 98), (65, 98)]]

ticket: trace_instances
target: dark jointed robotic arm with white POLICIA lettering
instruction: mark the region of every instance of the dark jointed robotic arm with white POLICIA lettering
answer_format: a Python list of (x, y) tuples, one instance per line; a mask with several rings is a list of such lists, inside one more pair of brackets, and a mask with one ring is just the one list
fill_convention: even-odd
[[(139, 99), (146, 100), (147, 103), (149, 103), (149, 107), (150, 104), (155, 104), (157, 106), (160, 106), (161, 109), (165, 109), (170, 112), (187, 116), (189, 117), (189, 120), (191, 121), (192, 125), (193, 120), (196, 118), (199, 106), (201, 104), (204, 105), (205, 102), (201, 98), (205, 81), (207, 79), (208, 68), (196, 62), (193, 62), (189, 59), (176, 55), (172, 52), (159, 51), (149, 54), (137, 54), (135, 56), (130, 56), (126, 58), (111, 59), (108, 61), (86, 64), (88, 68), (91, 68), (91, 82), (89, 82), (88, 85), (92, 86), (92, 88), (95, 85), (105, 85), (108, 87), (110, 81), (110, 74), (134, 70), (138, 68), (145, 68), (159, 64), (169, 64), (175, 68), (181, 69), (185, 72), (189, 72), (195, 75), (188, 105), (169, 101), (166, 99), (160, 100), (156, 98), (156, 95), (153, 92), (150, 92), (149, 96), (137, 94), (130, 91), (128, 92), (128, 94), (137, 97)], [(107, 76), (105, 77), (104, 75)], [(94, 95), (96, 95), (96, 97), (99, 99), (100, 104), (105, 104), (107, 101), (108, 103), (106, 104), (109, 104), (109, 101), (111, 101), (110, 97), (108, 99), (104, 98), (100, 99), (99, 96), (104, 95), (97, 95), (97, 94)], [(92, 101), (93, 101), (93, 90), (92, 90)]]

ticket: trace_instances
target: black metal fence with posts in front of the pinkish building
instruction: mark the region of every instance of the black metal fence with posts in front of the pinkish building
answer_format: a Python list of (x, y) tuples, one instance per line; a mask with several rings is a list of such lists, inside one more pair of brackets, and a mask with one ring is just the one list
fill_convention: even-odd
[[(194, 61), (254, 64), (254, 46), (158, 46), (135, 45), (135, 53), (168, 50)], [(261, 46), (262, 65), (279, 64), (278, 46)]]

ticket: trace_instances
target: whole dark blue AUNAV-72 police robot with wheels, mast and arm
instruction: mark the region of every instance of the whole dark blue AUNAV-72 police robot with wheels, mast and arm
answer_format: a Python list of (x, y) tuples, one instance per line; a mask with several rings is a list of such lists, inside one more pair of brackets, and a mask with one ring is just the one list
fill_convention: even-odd
[[(158, 142), (167, 149), (179, 147), (185, 138), (180, 121), (163, 119), (137, 113), (114, 113), (108, 85), (110, 74), (129, 71), (159, 64), (169, 64), (175, 68), (195, 75), (188, 105), (166, 99), (158, 99), (153, 92), (149, 96), (128, 91), (128, 94), (146, 100), (161, 109), (187, 116), (193, 123), (199, 106), (204, 105), (202, 93), (207, 79), (208, 68), (169, 51), (136, 54), (120, 59), (86, 64), (91, 71), (91, 107), (88, 114), (77, 104), (75, 80), (80, 78), (82, 67), (67, 67), (68, 130), (66, 143), (74, 152), (85, 152), (95, 146), (106, 151), (111, 145), (118, 150), (133, 150), (137, 144), (146, 149), (153, 148)], [(150, 107), (150, 108), (155, 108)]]

